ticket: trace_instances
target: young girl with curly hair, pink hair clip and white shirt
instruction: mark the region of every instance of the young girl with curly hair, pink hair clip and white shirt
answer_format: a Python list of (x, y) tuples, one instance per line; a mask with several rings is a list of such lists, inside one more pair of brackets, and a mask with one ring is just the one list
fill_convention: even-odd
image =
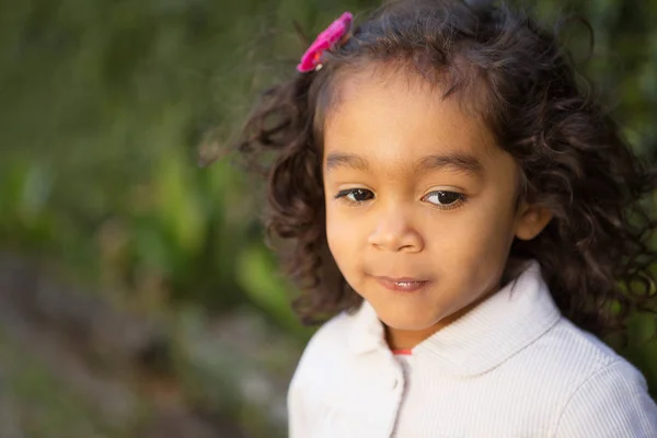
[(268, 229), (313, 336), (291, 437), (657, 437), (598, 336), (655, 313), (654, 187), (532, 20), (458, 0), (345, 13), (267, 91)]

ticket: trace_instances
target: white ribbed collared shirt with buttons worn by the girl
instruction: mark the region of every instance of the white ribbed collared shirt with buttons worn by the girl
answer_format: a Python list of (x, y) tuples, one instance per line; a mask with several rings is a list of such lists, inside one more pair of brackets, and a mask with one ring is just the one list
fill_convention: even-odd
[(365, 302), (324, 324), (288, 393), (291, 438), (656, 438), (643, 376), (560, 314), (538, 263), (410, 356)]

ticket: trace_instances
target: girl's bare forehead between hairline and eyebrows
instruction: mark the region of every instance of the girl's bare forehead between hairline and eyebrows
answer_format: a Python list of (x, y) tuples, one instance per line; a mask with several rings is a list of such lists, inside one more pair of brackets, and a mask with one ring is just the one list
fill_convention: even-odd
[(324, 157), (348, 152), (381, 162), (427, 154), (473, 154), (482, 160), (498, 148), (483, 119), (458, 93), (445, 96), (402, 69), (365, 69), (341, 78), (324, 123)]

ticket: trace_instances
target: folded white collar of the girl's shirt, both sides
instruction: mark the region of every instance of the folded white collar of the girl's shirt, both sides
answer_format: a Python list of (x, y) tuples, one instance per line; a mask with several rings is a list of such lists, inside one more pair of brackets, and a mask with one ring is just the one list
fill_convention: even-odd
[[(367, 301), (350, 318), (355, 354), (388, 348), (383, 324)], [(483, 373), (530, 345), (560, 318), (541, 267), (532, 261), (515, 280), (417, 345), (413, 356), (451, 374)]]

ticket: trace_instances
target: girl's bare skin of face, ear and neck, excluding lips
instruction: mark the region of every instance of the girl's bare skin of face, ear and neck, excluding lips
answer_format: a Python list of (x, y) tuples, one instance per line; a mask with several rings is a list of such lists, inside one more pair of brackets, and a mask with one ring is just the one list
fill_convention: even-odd
[[(514, 239), (551, 219), (518, 203), (518, 165), (479, 117), (401, 70), (345, 78), (324, 128), (328, 247), (391, 348), (415, 347), (499, 290)], [(382, 276), (426, 283), (393, 291)]]

